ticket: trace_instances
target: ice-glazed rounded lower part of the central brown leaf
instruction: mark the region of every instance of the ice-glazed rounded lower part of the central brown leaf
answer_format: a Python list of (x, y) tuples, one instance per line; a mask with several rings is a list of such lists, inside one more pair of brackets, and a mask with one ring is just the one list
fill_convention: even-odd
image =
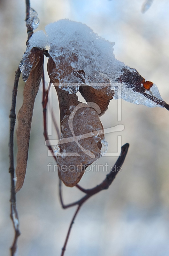
[[(83, 103), (79, 105), (81, 104)], [(77, 107), (71, 106), (71, 114), (65, 115), (61, 121), (61, 138), (66, 139), (54, 149), (59, 166), (59, 178), (69, 187), (75, 186), (81, 179), (85, 168), (102, 156), (101, 147), (105, 145), (104, 134), (98, 135), (97, 132), (102, 130), (102, 125), (96, 110), (88, 107), (87, 104), (81, 105), (81, 108)], [(94, 136), (95, 132), (96, 136)], [(78, 136), (78, 141), (71, 141), (73, 133)], [(103, 144), (102, 141), (104, 141)], [(61, 169), (63, 166), (64, 170)]]

